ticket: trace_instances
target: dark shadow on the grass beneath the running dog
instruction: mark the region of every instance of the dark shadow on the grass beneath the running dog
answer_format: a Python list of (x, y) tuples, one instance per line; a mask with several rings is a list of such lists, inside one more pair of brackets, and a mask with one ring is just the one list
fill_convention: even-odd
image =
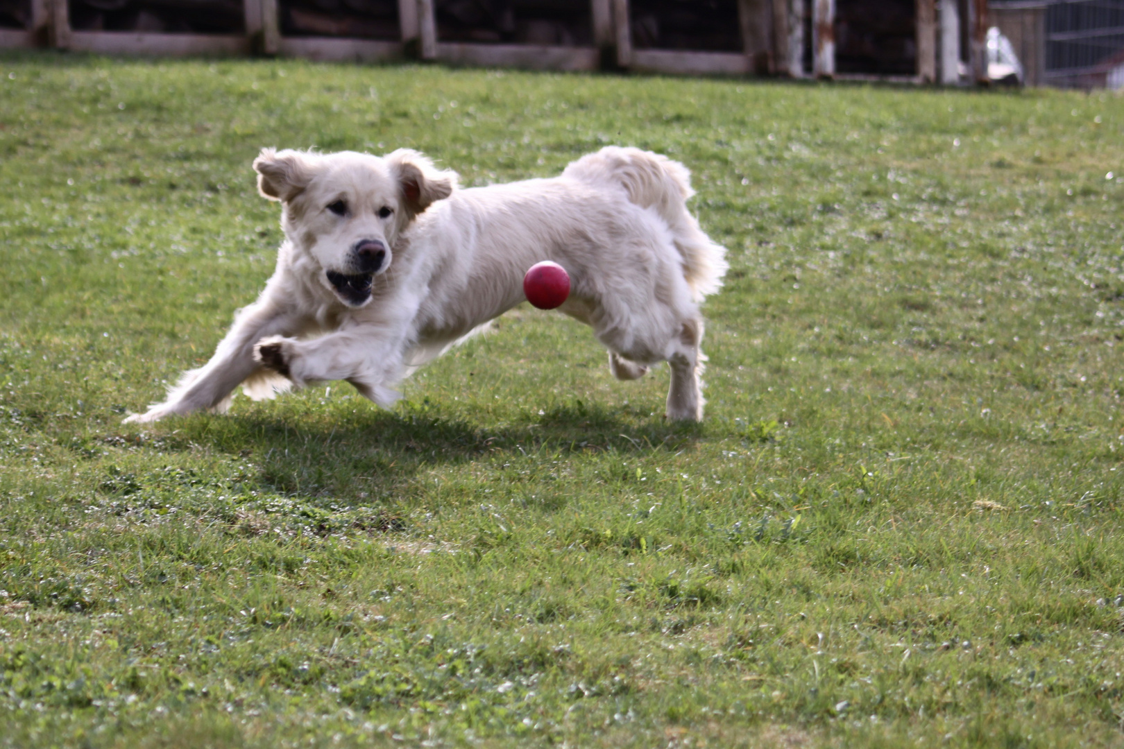
[[(339, 420), (294, 422), (281, 415), (192, 418), (184, 435), (197, 445), (250, 457), (263, 488), (306, 497), (370, 500), (409, 493), (419, 472), (474, 460), (545, 459), (573, 454), (678, 451), (700, 433), (694, 423), (637, 419), (627, 407), (580, 401), (491, 426), (407, 404)], [(196, 426), (191, 429), (189, 424)]]

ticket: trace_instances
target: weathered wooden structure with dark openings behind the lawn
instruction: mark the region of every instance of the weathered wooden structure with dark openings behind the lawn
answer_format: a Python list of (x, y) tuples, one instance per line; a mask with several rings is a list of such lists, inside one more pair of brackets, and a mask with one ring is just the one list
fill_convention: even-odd
[(982, 82), (986, 26), (986, 0), (0, 0), (0, 48), (917, 83)]

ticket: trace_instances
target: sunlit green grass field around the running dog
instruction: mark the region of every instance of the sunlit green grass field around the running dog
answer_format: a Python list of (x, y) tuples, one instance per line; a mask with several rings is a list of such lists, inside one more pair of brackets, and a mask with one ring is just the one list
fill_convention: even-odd
[[(0, 57), (0, 746), (1124, 745), (1124, 99)], [(686, 163), (707, 419), (522, 305), (148, 428), (262, 146)], [(1114, 174), (1115, 173), (1115, 174)], [(1120, 175), (1120, 176), (1116, 176)]]

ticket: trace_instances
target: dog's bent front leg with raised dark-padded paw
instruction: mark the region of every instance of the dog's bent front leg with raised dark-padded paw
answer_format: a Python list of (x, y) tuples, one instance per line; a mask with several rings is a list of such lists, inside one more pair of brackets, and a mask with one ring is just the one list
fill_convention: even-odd
[(365, 398), (389, 407), (401, 395), (405, 326), (362, 325), (311, 340), (273, 336), (254, 347), (254, 359), (297, 386), (346, 380)]

